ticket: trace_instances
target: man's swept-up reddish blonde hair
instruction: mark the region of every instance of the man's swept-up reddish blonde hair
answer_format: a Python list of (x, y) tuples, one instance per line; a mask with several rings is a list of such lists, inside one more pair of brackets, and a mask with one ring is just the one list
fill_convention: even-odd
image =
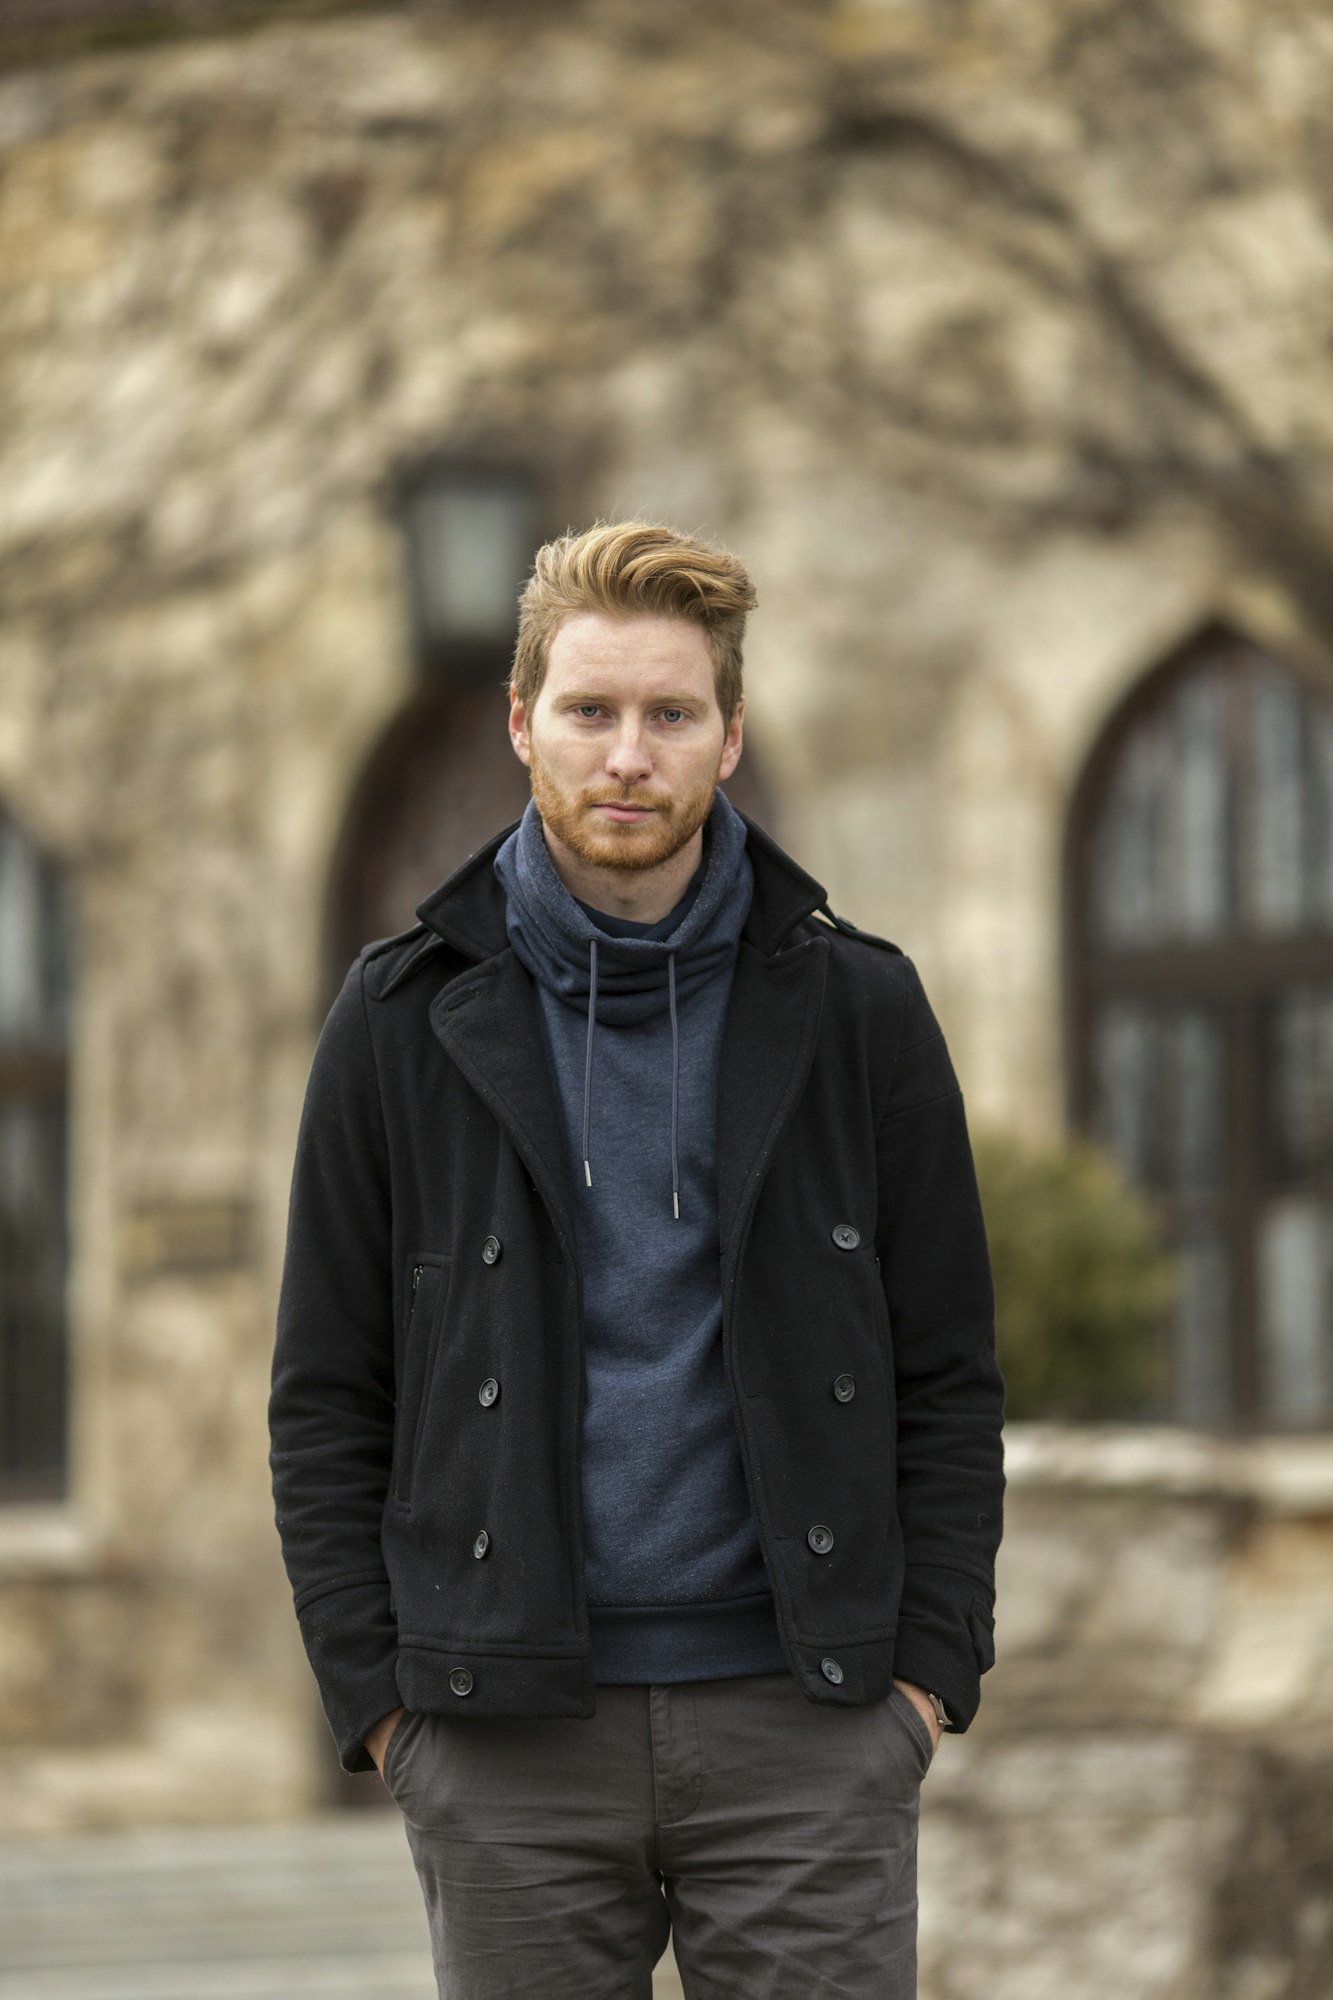
[(518, 644), (508, 686), (530, 708), (546, 674), (550, 640), (574, 612), (612, 618), (666, 616), (703, 626), (713, 654), (717, 706), (731, 722), (741, 702), (745, 614), (755, 586), (739, 556), (650, 520), (598, 520), (536, 550), (518, 600)]

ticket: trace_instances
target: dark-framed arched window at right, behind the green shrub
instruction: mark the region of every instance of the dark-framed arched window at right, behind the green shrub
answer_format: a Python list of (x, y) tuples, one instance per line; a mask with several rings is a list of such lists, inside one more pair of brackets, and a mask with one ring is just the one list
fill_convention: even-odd
[(1171, 1414), (1333, 1424), (1333, 700), (1199, 634), (1097, 744), (1065, 880), (1071, 1116), (1181, 1258)]

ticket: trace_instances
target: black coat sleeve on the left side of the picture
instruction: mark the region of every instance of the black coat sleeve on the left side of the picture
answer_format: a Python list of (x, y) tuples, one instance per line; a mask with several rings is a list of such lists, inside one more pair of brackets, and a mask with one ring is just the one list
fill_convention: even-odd
[(400, 1706), (380, 1552), (394, 1428), (388, 1148), (362, 992), (320, 1034), (296, 1140), (268, 1404), (282, 1560), (344, 1770)]

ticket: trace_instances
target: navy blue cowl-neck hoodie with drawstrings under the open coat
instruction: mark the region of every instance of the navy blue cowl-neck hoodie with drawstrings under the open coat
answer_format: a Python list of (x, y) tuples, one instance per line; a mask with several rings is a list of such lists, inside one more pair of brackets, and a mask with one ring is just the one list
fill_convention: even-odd
[(528, 804), (494, 860), (538, 986), (582, 1264), (584, 1576), (598, 1682), (783, 1672), (723, 1368), (717, 1082), (753, 872), (719, 792), (658, 924), (576, 902)]

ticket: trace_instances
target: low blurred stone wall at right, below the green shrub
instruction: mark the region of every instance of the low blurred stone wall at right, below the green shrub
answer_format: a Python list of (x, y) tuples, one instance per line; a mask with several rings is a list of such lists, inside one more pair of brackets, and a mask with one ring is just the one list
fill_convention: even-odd
[(1015, 1428), (999, 1666), (923, 1794), (923, 2000), (1327, 2000), (1333, 1446)]

